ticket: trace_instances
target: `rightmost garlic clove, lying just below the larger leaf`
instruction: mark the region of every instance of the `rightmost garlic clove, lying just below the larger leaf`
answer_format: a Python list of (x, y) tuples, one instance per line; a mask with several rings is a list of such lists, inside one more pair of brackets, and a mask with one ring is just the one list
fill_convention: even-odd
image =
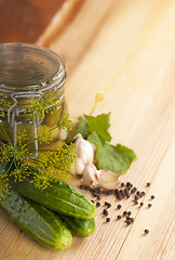
[(115, 188), (118, 183), (119, 174), (110, 170), (97, 170), (97, 180), (99, 186), (110, 190)]

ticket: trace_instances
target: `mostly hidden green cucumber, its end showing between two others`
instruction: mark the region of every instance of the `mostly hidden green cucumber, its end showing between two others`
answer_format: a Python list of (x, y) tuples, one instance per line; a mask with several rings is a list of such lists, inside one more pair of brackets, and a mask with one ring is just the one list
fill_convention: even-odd
[(59, 217), (73, 235), (85, 237), (92, 235), (95, 231), (94, 218), (77, 219), (64, 214), (59, 214)]

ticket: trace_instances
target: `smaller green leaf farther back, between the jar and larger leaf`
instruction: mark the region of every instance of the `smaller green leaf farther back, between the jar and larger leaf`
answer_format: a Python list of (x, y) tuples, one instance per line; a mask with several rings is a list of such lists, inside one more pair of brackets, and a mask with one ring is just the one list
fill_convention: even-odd
[(102, 114), (96, 117), (86, 116), (79, 117), (79, 122), (77, 125), (77, 133), (81, 133), (84, 139), (89, 136), (92, 132), (96, 132), (104, 141), (110, 142), (111, 136), (108, 132), (110, 127), (108, 114)]

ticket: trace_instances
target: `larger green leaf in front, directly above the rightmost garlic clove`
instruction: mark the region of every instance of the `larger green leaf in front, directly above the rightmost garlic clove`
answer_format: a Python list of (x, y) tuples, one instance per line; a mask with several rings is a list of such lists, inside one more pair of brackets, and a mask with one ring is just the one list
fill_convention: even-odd
[(103, 143), (100, 138), (93, 132), (89, 139), (97, 145), (96, 160), (98, 169), (107, 169), (117, 173), (124, 173), (137, 158), (135, 153), (124, 145), (116, 146)]

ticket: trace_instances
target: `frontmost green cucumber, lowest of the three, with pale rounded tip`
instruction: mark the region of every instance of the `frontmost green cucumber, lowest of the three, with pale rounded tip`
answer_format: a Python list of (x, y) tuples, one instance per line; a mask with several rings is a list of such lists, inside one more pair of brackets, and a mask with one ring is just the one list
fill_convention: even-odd
[(72, 235), (55, 212), (12, 190), (0, 206), (12, 222), (41, 245), (56, 250), (71, 245)]

